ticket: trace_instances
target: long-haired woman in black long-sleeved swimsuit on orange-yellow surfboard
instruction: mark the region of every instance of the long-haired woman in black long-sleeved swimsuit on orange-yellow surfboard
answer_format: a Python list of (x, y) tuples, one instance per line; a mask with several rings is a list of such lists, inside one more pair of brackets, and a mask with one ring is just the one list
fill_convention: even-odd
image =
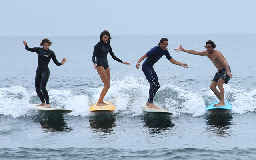
[[(100, 75), (100, 78), (102, 82), (104, 83), (104, 88), (102, 89), (100, 93), (100, 98), (97, 102), (97, 106), (105, 106), (106, 103), (103, 102), (103, 98), (105, 97), (106, 93), (109, 89), (109, 83), (110, 83), (110, 68), (108, 66), (108, 60), (107, 56), (108, 53), (112, 56), (112, 58), (122, 64), (126, 64), (130, 66), (130, 63), (123, 62), (119, 58), (117, 58), (114, 55), (114, 52), (112, 51), (112, 48), (110, 46), (110, 33), (107, 30), (104, 30), (100, 34), (100, 42), (98, 42), (94, 46), (93, 54), (92, 54), (92, 62), (94, 64), (94, 69), (97, 70), (98, 74)], [(95, 61), (95, 57), (97, 62)]]

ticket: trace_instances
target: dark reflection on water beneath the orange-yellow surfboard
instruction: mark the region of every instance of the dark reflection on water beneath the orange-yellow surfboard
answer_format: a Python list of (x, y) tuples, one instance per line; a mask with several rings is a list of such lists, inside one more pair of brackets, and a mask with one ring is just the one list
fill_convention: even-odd
[(116, 126), (116, 118), (114, 115), (101, 115), (90, 117), (90, 128), (96, 132), (110, 133)]

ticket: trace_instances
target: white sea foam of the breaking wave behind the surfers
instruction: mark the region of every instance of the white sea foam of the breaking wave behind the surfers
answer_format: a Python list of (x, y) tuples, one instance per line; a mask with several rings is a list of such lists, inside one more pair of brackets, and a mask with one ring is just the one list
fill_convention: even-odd
[[(75, 91), (50, 90), (50, 103), (53, 108), (72, 110), (66, 116), (94, 116), (88, 109), (98, 101), (103, 86), (87, 88), (84, 94), (78, 95)], [(256, 109), (256, 90), (245, 91), (242, 88), (232, 88), (224, 85), (225, 100), (232, 104), (232, 113), (244, 114)], [(145, 78), (124, 76), (122, 80), (113, 78), (110, 89), (104, 100), (116, 106), (118, 116), (141, 116), (141, 107), (148, 100), (149, 84)], [(173, 112), (174, 115), (190, 114), (202, 116), (207, 113), (206, 106), (216, 102), (217, 98), (210, 88), (196, 91), (182, 90), (171, 82), (162, 84), (154, 97), (154, 103)], [(28, 92), (20, 86), (0, 88), (0, 114), (16, 117), (36, 114), (30, 103), (39, 103), (36, 92)]]

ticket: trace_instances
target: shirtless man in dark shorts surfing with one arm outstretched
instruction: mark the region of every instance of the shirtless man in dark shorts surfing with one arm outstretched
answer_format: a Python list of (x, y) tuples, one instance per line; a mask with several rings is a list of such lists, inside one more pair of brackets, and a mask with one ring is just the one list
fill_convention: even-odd
[[(230, 66), (228, 65), (228, 61), (223, 56), (223, 54), (220, 51), (215, 50), (216, 45), (213, 41), (208, 40), (206, 42), (206, 46), (204, 47), (206, 47), (206, 50), (202, 52), (198, 52), (194, 50), (186, 50), (181, 45), (180, 47), (176, 47), (176, 49), (174, 50), (176, 50), (177, 52), (183, 51), (189, 54), (207, 56), (208, 58), (210, 58), (210, 60), (218, 70), (218, 72), (216, 72), (212, 80), (212, 83), (210, 85), (210, 89), (214, 92), (215, 96), (220, 100), (220, 102), (215, 104), (214, 106), (216, 107), (225, 106), (226, 105), (224, 102), (225, 91), (223, 88), (223, 84), (224, 83), (228, 84), (230, 77), (231, 78), (233, 77), (233, 75), (231, 74)], [(220, 91), (217, 90), (216, 88), (217, 86), (219, 87)]]

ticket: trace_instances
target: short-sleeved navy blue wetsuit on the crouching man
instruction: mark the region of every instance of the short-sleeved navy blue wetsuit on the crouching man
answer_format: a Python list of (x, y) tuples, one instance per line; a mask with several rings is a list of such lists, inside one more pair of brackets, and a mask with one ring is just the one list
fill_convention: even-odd
[(160, 88), (158, 77), (153, 66), (158, 60), (160, 60), (160, 58), (162, 58), (162, 56), (165, 55), (168, 60), (172, 59), (172, 56), (170, 56), (170, 53), (167, 49), (162, 50), (160, 46), (151, 48), (151, 50), (148, 51), (146, 55), (147, 58), (142, 64), (142, 71), (150, 83), (148, 102), (153, 103), (153, 97), (155, 96), (157, 90)]

